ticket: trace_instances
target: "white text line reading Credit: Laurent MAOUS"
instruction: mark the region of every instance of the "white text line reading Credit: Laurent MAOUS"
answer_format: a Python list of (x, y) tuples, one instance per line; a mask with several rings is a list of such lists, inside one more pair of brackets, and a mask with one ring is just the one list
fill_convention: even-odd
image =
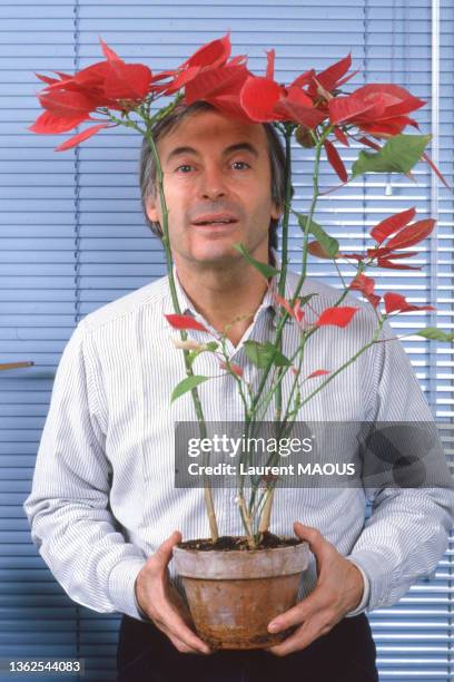
[(298, 461), (296, 470), (295, 465), (279, 466), (249, 466), (240, 462), (238, 467), (231, 464), (219, 462), (215, 466), (199, 465), (193, 461), (188, 466), (190, 476), (354, 476), (355, 465), (348, 462), (302, 462)]

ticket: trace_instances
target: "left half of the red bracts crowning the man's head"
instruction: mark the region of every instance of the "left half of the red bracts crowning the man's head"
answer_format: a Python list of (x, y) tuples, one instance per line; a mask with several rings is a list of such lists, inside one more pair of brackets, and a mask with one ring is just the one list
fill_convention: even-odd
[[(238, 92), (249, 76), (246, 57), (229, 60), (229, 35), (198, 49), (180, 67), (152, 75), (142, 64), (126, 64), (100, 40), (106, 60), (81, 69), (77, 75), (57, 72), (59, 78), (37, 74), (47, 87), (38, 95), (45, 113), (30, 130), (58, 134), (72, 130), (85, 121), (99, 121), (57, 147), (61, 152), (78, 145), (102, 128), (117, 124), (91, 118), (92, 113), (107, 114), (102, 109), (130, 111), (147, 98), (174, 95), (185, 88), (185, 101), (210, 101), (231, 116), (245, 119), (239, 106)], [(165, 82), (162, 82), (165, 81)]]

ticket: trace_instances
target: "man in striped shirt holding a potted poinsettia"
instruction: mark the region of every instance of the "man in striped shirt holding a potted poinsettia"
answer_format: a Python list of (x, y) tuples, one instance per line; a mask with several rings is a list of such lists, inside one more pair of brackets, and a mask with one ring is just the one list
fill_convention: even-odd
[[(283, 206), (282, 149), (269, 127), (200, 104), (180, 108), (156, 138), (181, 312), (213, 332), (227, 328), (230, 357), (256, 383), (258, 370), (247, 362), (244, 342), (273, 338), (276, 305), (233, 244), (241, 242), (268, 262)], [(152, 178), (145, 154), (142, 199), (159, 232)], [(296, 279), (288, 273), (287, 298)], [(307, 282), (304, 292), (317, 293), (315, 310), (336, 300), (323, 283)], [(178, 579), (168, 571), (181, 535), (208, 535), (200, 490), (172, 487), (174, 425), (195, 416), (189, 394), (169, 401), (184, 377), (181, 351), (164, 319), (169, 312), (162, 277), (87, 315), (66, 347), (24, 504), (41, 556), (75, 601), (126, 614), (118, 680), (376, 680), (375, 646), (362, 612), (396, 602), (435, 567), (452, 525), (452, 490), (373, 490), (366, 525), (363, 488), (276, 495), (274, 532), (288, 535), (293, 522), (304, 520), (294, 529), (316, 559), (305, 574), (304, 598), (269, 624), (273, 632), (295, 631), (270, 651), (213, 654), (194, 632)], [(347, 333), (324, 330), (308, 344), (307, 367), (339, 367), (369, 340), (372, 318), (364, 312)], [(294, 343), (293, 333), (287, 325), (284, 350)], [(205, 332), (194, 338), (208, 340)], [(219, 374), (208, 353), (196, 362), (198, 373)], [(206, 382), (199, 392), (207, 420), (243, 419), (230, 376)], [(397, 343), (364, 353), (307, 405), (304, 418), (432, 419)], [(233, 490), (215, 490), (215, 504), (223, 534), (240, 534)]]

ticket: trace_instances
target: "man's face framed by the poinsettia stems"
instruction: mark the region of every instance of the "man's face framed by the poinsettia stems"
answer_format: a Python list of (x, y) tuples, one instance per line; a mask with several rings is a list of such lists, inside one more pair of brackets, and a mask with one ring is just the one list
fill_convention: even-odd
[[(267, 262), (269, 221), (279, 211), (272, 201), (264, 127), (219, 111), (199, 111), (157, 148), (177, 265), (180, 259), (206, 265), (243, 259), (231, 246), (237, 242)], [(162, 225), (159, 195), (148, 199), (147, 213)], [(229, 222), (210, 222), (216, 220)]]

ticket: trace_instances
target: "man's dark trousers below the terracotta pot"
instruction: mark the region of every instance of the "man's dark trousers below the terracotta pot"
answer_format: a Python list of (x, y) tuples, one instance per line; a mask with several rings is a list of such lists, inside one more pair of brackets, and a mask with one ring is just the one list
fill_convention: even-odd
[(375, 656), (364, 614), (280, 657), (260, 650), (182, 654), (152, 623), (124, 615), (117, 682), (377, 682)]

